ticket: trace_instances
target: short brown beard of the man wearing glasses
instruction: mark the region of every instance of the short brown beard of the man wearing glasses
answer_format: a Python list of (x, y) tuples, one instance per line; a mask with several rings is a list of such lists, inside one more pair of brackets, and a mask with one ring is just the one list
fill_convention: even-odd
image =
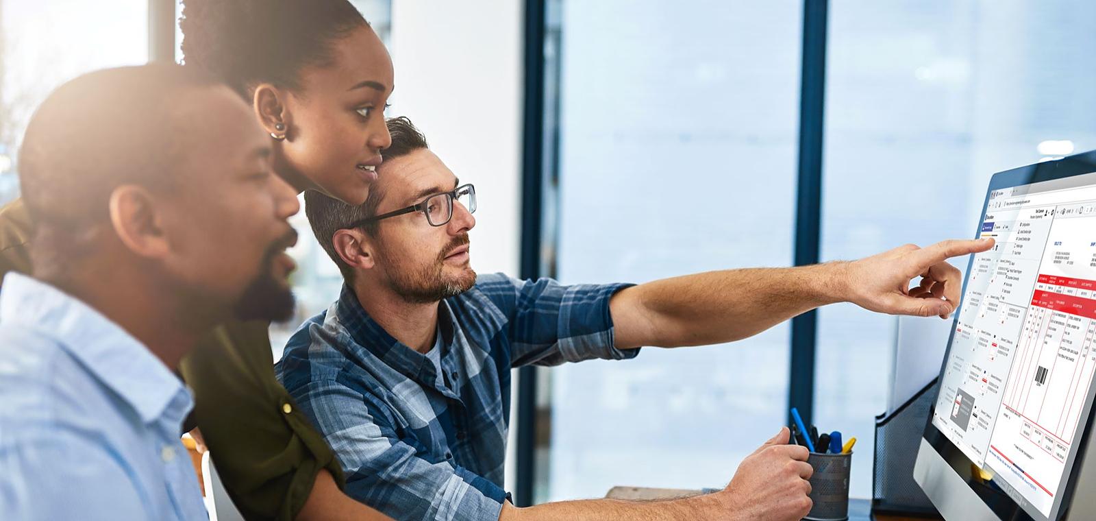
[(471, 268), (464, 270), (459, 275), (445, 276), (445, 258), (452, 254), (454, 249), (469, 242), (468, 234), (454, 237), (453, 241), (437, 254), (434, 262), (413, 270), (413, 272), (403, 271), (401, 268), (406, 265), (404, 263), (393, 262), (380, 253), (388, 268), (388, 287), (402, 297), (404, 302), (412, 304), (431, 304), (470, 290), (476, 285), (476, 272)]

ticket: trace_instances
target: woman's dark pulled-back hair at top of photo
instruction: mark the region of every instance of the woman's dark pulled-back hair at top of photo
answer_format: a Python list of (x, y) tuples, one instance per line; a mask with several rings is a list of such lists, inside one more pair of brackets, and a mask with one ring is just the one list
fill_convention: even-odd
[(299, 89), (300, 70), (332, 60), (331, 44), (368, 26), (347, 0), (183, 0), (183, 60), (247, 101), (255, 84)]

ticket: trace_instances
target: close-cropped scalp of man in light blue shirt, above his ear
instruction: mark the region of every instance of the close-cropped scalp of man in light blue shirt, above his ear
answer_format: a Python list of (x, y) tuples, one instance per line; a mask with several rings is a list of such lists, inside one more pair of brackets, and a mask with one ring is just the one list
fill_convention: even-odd
[(194, 68), (147, 65), (91, 72), (55, 90), (20, 150), (35, 223), (77, 231), (107, 218), (118, 185), (170, 186), (199, 124), (187, 98), (218, 88), (227, 89)]

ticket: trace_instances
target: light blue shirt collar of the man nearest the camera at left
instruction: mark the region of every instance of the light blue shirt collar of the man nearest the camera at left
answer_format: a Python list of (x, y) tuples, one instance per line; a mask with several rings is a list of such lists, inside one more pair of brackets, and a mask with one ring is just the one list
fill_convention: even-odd
[(22, 324), (50, 337), (88, 372), (150, 423), (182, 424), (190, 393), (160, 359), (102, 314), (42, 281), (15, 272), (3, 279), (0, 322)]

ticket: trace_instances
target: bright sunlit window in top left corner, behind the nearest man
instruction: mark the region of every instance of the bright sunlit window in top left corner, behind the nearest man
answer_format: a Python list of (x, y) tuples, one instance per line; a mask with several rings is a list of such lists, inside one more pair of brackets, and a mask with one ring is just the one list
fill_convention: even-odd
[(53, 89), (147, 60), (147, 0), (0, 0), (0, 204), (19, 196), (23, 132)]

